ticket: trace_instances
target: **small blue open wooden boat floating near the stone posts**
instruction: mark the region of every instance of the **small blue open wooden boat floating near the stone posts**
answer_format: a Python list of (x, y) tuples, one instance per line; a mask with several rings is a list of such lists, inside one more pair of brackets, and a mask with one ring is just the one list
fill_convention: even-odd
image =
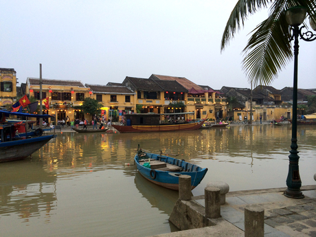
[[(142, 149), (137, 150), (134, 160), (139, 173), (145, 179), (172, 190), (179, 190), (180, 175), (191, 176), (191, 187), (193, 190), (201, 183), (207, 172), (207, 168), (201, 168), (184, 160), (162, 154), (146, 153)], [(148, 163), (150, 167), (148, 167)]]

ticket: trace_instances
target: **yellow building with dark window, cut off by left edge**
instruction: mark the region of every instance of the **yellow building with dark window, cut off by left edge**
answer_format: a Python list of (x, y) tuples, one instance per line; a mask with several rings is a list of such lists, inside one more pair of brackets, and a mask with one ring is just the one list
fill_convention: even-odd
[(0, 106), (16, 102), (16, 71), (13, 68), (0, 68)]

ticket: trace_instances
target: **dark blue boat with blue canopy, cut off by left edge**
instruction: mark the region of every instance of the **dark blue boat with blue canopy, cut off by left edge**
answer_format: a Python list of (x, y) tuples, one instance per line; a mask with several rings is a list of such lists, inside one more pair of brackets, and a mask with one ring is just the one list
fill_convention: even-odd
[(16, 124), (5, 122), (5, 117), (9, 115), (23, 117), (50, 117), (50, 115), (32, 115), (29, 113), (0, 111), (0, 162), (25, 159), (47, 144), (50, 139), (56, 137), (56, 135), (31, 137), (27, 134), (16, 136)]

